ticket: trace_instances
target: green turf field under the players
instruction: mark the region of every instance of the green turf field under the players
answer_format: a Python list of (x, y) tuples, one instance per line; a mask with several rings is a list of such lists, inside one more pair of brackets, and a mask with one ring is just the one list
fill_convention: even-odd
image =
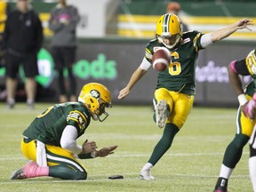
[[(88, 180), (36, 178), (9, 180), (13, 171), (27, 162), (20, 151), (21, 133), (30, 121), (50, 104), (37, 104), (28, 110), (23, 103), (15, 109), (0, 104), (0, 191), (172, 191), (211, 192), (220, 172), (222, 156), (236, 132), (236, 108), (193, 108), (188, 121), (172, 143), (172, 148), (152, 170), (156, 180), (140, 180), (139, 172), (148, 161), (163, 130), (152, 121), (151, 106), (108, 109), (104, 123), (93, 122), (79, 140), (94, 140), (98, 147), (118, 145), (115, 154), (105, 158), (81, 160)], [(248, 146), (231, 179), (229, 192), (250, 192)], [(114, 174), (124, 180), (108, 180)]]

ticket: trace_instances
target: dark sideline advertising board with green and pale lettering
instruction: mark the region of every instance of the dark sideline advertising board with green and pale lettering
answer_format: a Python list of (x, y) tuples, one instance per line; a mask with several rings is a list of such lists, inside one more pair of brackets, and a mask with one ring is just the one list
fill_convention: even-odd
[[(133, 71), (139, 67), (143, 59), (144, 49), (148, 41), (136, 40), (93, 40), (80, 41), (77, 47), (76, 63), (73, 73), (76, 76), (77, 91), (84, 84), (98, 82), (105, 84), (112, 93), (113, 103), (151, 104), (156, 88), (156, 71), (150, 68), (132, 92), (124, 100), (118, 100), (119, 91), (128, 83)], [(243, 59), (253, 49), (253, 44), (238, 42), (221, 42), (212, 44), (199, 52), (196, 66), (195, 103), (200, 105), (236, 106), (235, 92), (228, 82), (227, 66), (232, 60)], [(36, 81), (44, 89), (54, 92), (52, 100), (57, 100), (56, 72), (49, 44), (38, 54), (40, 76)], [(68, 76), (66, 72), (66, 76)], [(20, 70), (21, 79), (22, 70)], [(250, 76), (243, 78), (244, 84), (251, 81)], [(0, 68), (0, 85), (4, 85), (4, 68)], [(42, 95), (41, 95), (42, 96)], [(38, 95), (39, 100), (40, 94)]]

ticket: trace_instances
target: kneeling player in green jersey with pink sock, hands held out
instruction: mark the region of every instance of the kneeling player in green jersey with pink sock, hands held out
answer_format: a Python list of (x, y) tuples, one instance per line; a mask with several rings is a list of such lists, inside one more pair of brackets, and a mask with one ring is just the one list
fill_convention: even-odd
[(23, 132), (21, 150), (28, 164), (12, 174), (12, 180), (50, 176), (62, 180), (86, 180), (87, 172), (76, 158), (108, 156), (117, 146), (97, 150), (96, 142), (83, 146), (76, 139), (82, 136), (93, 120), (108, 117), (111, 95), (102, 84), (85, 84), (78, 102), (66, 102), (47, 108)]

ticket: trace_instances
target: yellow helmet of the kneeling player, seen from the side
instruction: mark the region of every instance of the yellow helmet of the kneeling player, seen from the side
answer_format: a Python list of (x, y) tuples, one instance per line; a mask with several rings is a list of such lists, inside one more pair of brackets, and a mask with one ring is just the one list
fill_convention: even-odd
[(83, 102), (85, 107), (89, 109), (93, 120), (100, 120), (100, 122), (108, 117), (105, 108), (112, 108), (111, 94), (108, 88), (102, 84), (85, 84), (79, 94), (78, 101)]

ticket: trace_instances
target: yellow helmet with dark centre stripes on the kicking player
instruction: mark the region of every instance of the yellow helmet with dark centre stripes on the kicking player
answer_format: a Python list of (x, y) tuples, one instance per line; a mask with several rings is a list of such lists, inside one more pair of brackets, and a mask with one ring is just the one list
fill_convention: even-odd
[(168, 49), (180, 43), (183, 28), (177, 15), (167, 13), (160, 17), (156, 23), (156, 38)]

